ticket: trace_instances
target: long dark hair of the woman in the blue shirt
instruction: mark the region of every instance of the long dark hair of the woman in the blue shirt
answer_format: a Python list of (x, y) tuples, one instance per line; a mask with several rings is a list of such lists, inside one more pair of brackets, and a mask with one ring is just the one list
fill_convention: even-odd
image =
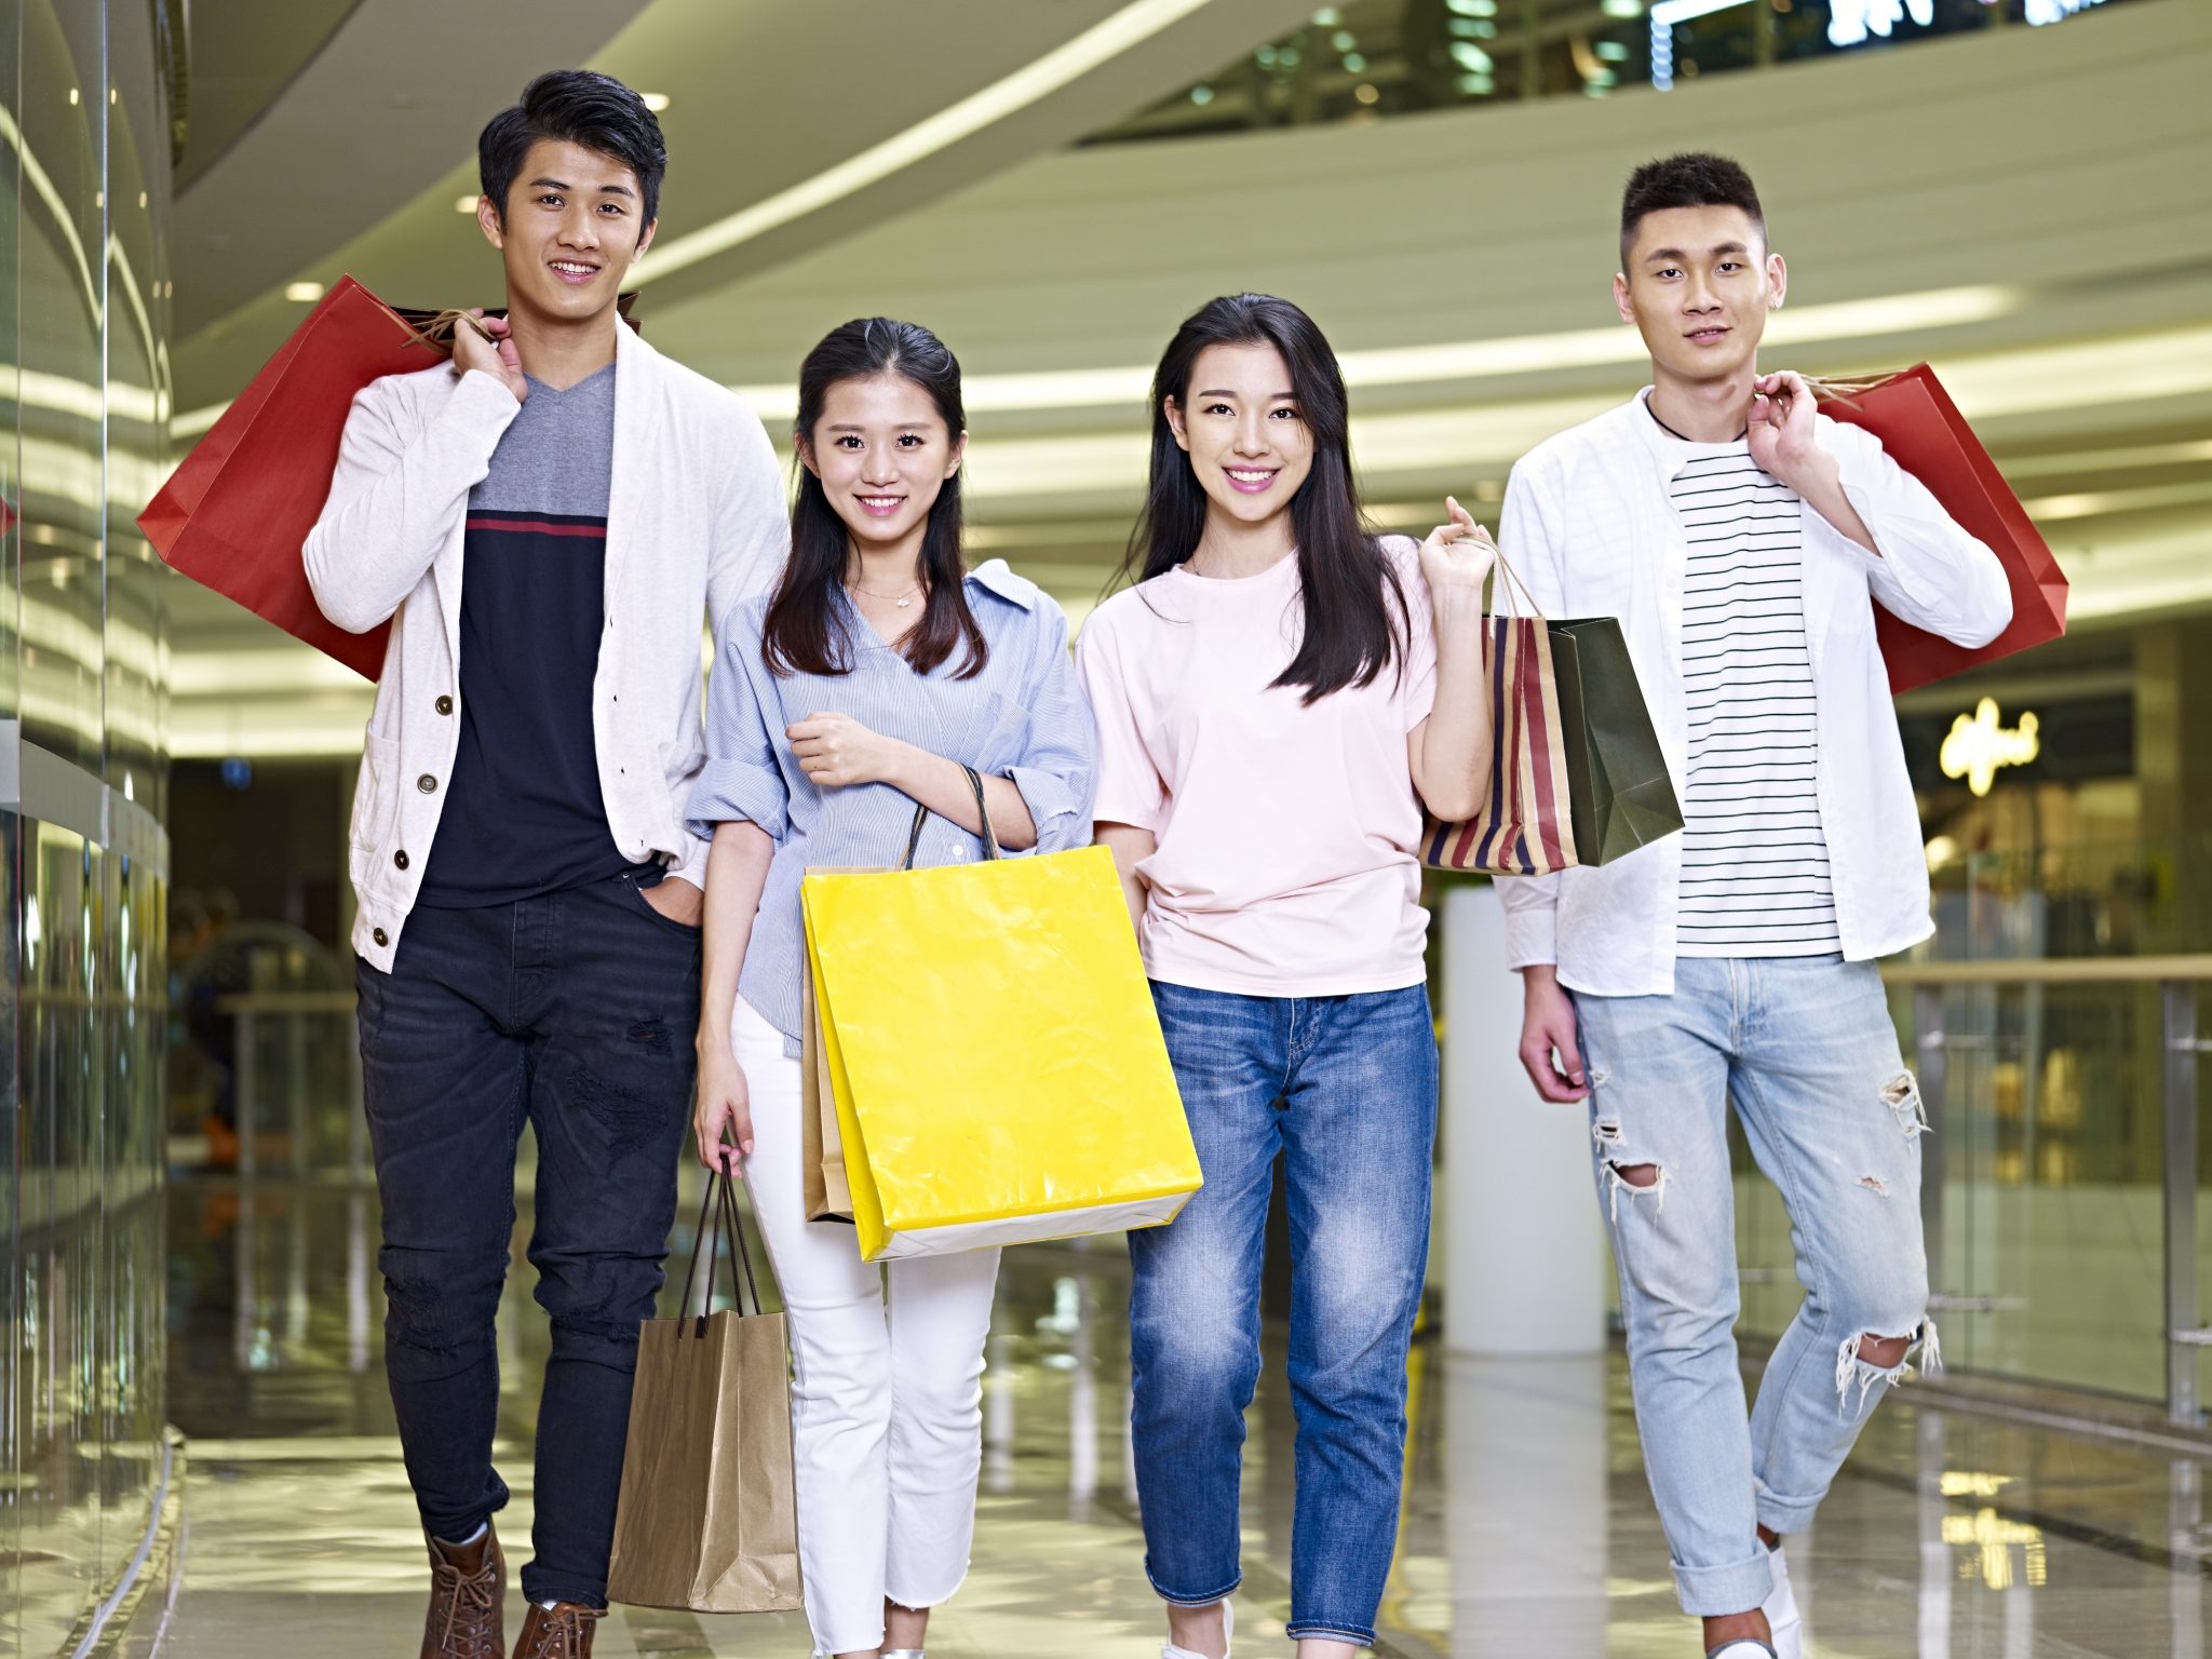
[[(960, 407), (960, 358), (927, 327), (894, 323), (889, 316), (863, 316), (834, 327), (807, 352), (807, 361), (799, 365), (799, 418), (792, 422), (799, 442), (812, 449), (830, 387), (891, 374), (927, 392), (945, 420), (947, 436), (960, 442), (967, 429), (967, 414)], [(783, 566), (776, 597), (768, 602), (761, 630), (770, 670), (852, 672), (852, 615), (845, 597), (849, 560), (852, 531), (830, 507), (823, 480), (801, 460), (799, 498), (792, 502), (792, 557)], [(914, 672), (927, 675), (964, 646), (967, 661), (953, 677), (980, 675), (991, 648), (967, 604), (967, 566), (960, 562), (960, 473), (945, 480), (929, 507), (918, 575), (927, 597), (922, 619), (900, 644), (907, 664)]]

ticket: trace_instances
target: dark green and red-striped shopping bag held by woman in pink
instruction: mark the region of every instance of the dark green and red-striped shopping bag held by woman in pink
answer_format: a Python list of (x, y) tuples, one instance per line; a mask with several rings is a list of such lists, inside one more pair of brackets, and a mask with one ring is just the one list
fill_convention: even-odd
[(1681, 830), (1681, 803), (1619, 617), (1535, 615), (1511, 566), (1489, 619), (1491, 801), (1469, 823), (1429, 823), (1436, 869), (1548, 876), (1604, 865)]

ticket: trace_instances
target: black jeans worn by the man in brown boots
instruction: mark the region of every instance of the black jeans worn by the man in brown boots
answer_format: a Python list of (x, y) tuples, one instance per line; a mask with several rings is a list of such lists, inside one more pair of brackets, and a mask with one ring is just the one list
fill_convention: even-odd
[(465, 1540), (507, 1502), (491, 1467), (493, 1316), (529, 1121), (529, 1254), (553, 1356), (522, 1593), (606, 1606), (637, 1325), (661, 1287), (690, 1126), (699, 931), (617, 876), (513, 905), (416, 909), (392, 973), (363, 962), (358, 984), (385, 1369), (422, 1524)]

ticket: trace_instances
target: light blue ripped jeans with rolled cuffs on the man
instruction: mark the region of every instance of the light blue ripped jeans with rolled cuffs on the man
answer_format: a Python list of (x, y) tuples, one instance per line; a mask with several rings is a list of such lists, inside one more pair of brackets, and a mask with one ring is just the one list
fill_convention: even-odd
[[(1812, 1520), (1905, 1363), (1938, 1365), (1920, 1239), (1920, 1091), (1871, 962), (1681, 958), (1674, 993), (1575, 993), (1597, 1194), (1613, 1230), (1644, 1469), (1686, 1613), (1767, 1597), (1756, 1526)], [(1805, 1301), (1745, 1422), (1728, 1104), (1790, 1206)], [(1657, 1168), (1650, 1186), (1624, 1170)]]

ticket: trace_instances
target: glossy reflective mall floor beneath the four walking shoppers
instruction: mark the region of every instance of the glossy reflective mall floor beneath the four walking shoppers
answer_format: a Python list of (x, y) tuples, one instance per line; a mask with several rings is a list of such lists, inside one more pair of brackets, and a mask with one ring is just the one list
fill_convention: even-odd
[[(374, 1206), (336, 1188), (173, 1194), (170, 1413), (192, 1440), (181, 1659), (414, 1655), (422, 1546), (378, 1369)], [(1159, 1648), (1126, 1469), (1126, 1259), (1009, 1256), (991, 1340), (975, 1571), (933, 1659)], [(502, 1473), (529, 1513), (526, 1270), (509, 1290)], [(1413, 1360), (1407, 1524), (1385, 1655), (1697, 1655), (1674, 1613), (1619, 1358)], [(1287, 1652), (1290, 1422), (1254, 1407), (1239, 1655)], [(1889, 1407), (1792, 1542), (1820, 1659), (2205, 1659), (2205, 1464)], [(509, 1628), (513, 1628), (511, 1615)], [(599, 1655), (807, 1652), (796, 1615), (617, 1610)]]

